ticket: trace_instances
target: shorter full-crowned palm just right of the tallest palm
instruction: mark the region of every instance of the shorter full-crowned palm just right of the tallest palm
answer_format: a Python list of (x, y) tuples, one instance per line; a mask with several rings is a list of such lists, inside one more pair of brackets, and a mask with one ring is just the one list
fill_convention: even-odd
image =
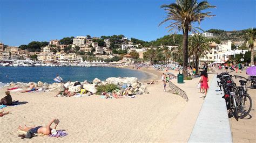
[[(201, 34), (194, 34), (190, 39), (190, 45), (188, 47), (188, 54), (195, 57), (196, 61), (196, 73), (198, 73), (198, 63), (201, 56), (206, 56), (206, 52), (210, 51), (210, 45), (206, 42), (205, 38)], [(194, 60), (194, 59), (193, 59)]]

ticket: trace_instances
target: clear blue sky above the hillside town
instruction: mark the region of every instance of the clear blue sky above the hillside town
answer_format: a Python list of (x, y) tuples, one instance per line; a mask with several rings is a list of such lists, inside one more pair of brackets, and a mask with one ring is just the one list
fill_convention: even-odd
[[(198, 0), (199, 2), (201, 0)], [(168, 35), (162, 4), (174, 0), (0, 0), (0, 42), (19, 46), (77, 35), (123, 34), (145, 41)], [(211, 28), (233, 31), (256, 27), (255, 0), (208, 0), (213, 18), (201, 22)], [(197, 25), (197, 24), (196, 24)]]

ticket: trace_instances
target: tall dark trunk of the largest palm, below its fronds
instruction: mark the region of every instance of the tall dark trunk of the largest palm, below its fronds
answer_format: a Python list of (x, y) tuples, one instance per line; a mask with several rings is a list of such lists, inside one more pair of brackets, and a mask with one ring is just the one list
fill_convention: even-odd
[(188, 25), (185, 26), (185, 30), (183, 30), (183, 75), (187, 77), (187, 57), (188, 57)]

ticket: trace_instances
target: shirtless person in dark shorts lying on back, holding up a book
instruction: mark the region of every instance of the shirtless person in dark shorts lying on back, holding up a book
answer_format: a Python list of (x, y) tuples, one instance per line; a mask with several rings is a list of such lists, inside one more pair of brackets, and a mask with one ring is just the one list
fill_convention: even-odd
[(58, 125), (58, 123), (55, 124), (55, 127), (53, 127), (53, 129), (51, 128), (51, 124), (53, 122), (55, 122), (55, 120), (57, 120), (57, 118), (54, 118), (50, 121), (50, 123), (43, 127), (43, 126), (33, 126), (33, 127), (27, 127), (26, 125), (24, 127), (22, 126), (19, 126), (19, 130), (22, 130), (22, 131), (25, 131), (27, 132), (26, 135), (25, 134), (19, 134), (19, 137), (21, 137), (22, 139), (24, 138), (32, 138), (33, 135), (35, 135), (36, 133), (42, 133), (44, 135), (49, 135), (49, 134), (52, 134), (53, 132), (56, 131), (56, 127)]

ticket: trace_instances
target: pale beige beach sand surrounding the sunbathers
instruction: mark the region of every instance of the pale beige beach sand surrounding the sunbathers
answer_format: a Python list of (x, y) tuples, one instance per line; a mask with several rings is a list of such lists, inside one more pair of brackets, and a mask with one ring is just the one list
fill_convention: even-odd
[[(163, 72), (152, 68), (142, 70), (152, 75), (147, 81), (160, 79)], [(11, 92), (13, 100), (28, 103), (0, 110), (10, 111), (9, 115), (0, 117), (0, 139), (5, 142), (163, 141), (187, 102), (178, 95), (163, 92), (162, 84), (157, 80), (156, 84), (147, 85), (150, 94), (124, 99), (102, 99), (96, 95), (53, 97), (56, 93), (52, 92)], [(0, 98), (4, 97), (5, 90), (0, 89)], [(45, 126), (52, 118), (60, 120), (57, 130), (66, 130), (69, 135), (64, 138), (18, 138), (18, 125)]]

